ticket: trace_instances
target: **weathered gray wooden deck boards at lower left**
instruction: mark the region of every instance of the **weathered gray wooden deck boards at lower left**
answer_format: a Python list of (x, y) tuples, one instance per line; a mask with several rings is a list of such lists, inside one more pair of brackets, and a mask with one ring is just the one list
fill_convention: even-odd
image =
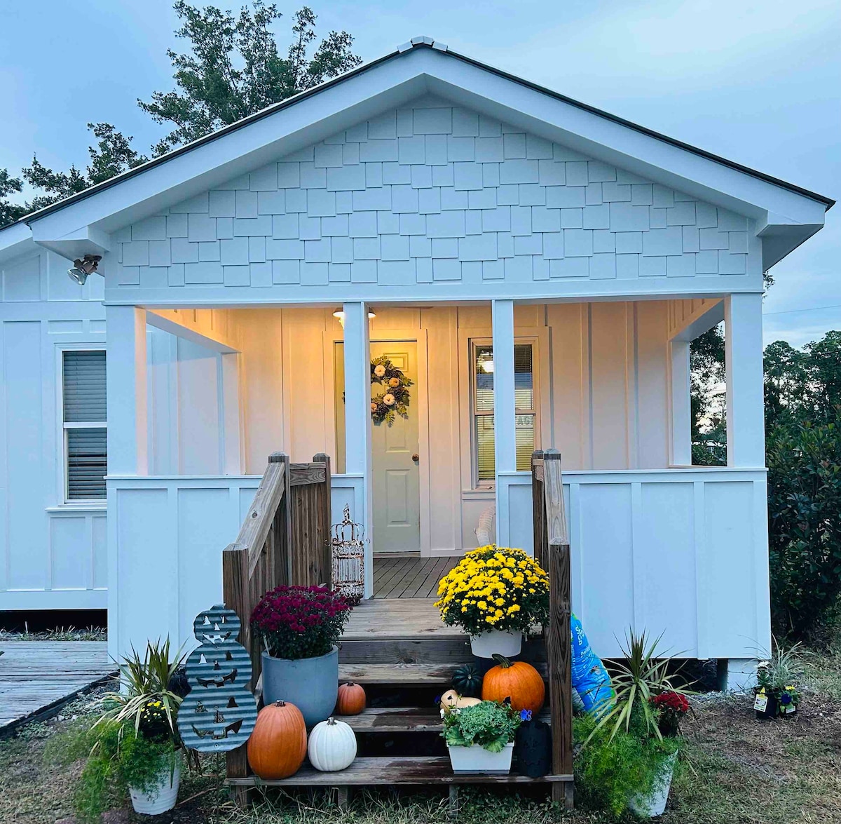
[(2, 641), (0, 650), (0, 737), (116, 674), (106, 641)]

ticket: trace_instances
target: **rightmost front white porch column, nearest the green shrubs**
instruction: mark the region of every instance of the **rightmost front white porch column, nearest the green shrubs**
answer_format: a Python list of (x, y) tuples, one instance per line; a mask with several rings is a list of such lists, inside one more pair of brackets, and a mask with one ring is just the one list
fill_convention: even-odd
[(762, 295), (724, 301), (727, 466), (765, 465)]

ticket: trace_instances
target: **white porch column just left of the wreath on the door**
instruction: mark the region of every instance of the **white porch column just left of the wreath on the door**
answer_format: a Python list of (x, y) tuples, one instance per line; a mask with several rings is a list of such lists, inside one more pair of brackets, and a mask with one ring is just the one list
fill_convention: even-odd
[[(373, 534), (371, 459), (371, 343), (368, 304), (346, 303), (345, 311), (345, 471), (362, 476), (362, 513), (354, 513)], [(365, 550), (365, 597), (373, 595), (373, 545)]]

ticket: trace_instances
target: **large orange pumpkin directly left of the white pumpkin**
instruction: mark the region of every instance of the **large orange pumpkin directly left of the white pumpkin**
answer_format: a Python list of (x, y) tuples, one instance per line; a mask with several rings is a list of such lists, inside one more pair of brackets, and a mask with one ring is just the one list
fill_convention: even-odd
[(257, 715), (248, 739), (248, 763), (263, 780), (287, 779), (297, 773), (307, 754), (304, 716), (294, 704), (275, 701)]

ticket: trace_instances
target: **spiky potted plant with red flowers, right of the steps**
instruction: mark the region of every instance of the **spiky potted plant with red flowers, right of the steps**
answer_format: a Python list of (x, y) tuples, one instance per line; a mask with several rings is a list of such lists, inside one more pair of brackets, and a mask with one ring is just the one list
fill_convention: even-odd
[[(590, 765), (589, 783), (600, 779), (618, 788), (610, 804), (617, 815), (630, 810), (661, 816), (669, 799), (690, 693), (669, 675), (672, 659), (659, 642), (649, 641), (645, 632), (628, 633), (621, 660), (610, 667), (614, 703), (588, 718), (582, 752)], [(595, 775), (603, 769), (606, 774)]]

